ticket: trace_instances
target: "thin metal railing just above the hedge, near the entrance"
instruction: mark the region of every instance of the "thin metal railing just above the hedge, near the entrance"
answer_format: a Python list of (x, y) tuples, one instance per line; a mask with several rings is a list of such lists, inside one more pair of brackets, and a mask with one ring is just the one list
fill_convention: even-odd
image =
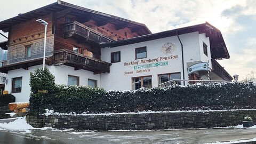
[(221, 82), (227, 82), (227, 81), (172, 79), (172, 80), (167, 81), (167, 82), (164, 82), (164, 83), (162, 83), (162, 84), (158, 84), (158, 87), (169, 86), (169, 85), (175, 84), (175, 83), (177, 83), (177, 82), (203, 82), (203, 83), (209, 82), (209, 83), (211, 84), (211, 83), (221, 83)]

